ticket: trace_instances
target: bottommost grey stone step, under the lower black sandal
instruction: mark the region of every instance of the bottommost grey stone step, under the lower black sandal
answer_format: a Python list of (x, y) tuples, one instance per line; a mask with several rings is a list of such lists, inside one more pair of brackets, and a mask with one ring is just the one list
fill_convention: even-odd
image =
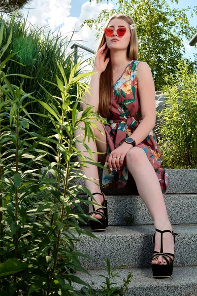
[[(95, 288), (103, 286), (104, 278), (100, 274), (107, 276), (104, 270), (90, 270), (91, 276), (77, 272), (84, 281), (91, 284), (92, 280), (96, 282)], [(127, 278), (131, 272), (133, 278), (128, 285), (128, 292), (125, 296), (197, 296), (197, 266), (174, 267), (173, 275), (170, 278), (155, 279), (151, 268), (130, 268), (116, 271), (120, 278), (115, 277), (113, 282), (116, 287), (123, 284), (123, 279)], [(80, 285), (75, 286), (80, 290)]]

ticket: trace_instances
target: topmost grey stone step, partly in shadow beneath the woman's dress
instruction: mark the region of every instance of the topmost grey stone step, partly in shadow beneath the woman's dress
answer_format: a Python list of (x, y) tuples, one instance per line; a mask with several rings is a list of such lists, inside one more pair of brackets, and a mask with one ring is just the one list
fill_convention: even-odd
[[(197, 193), (197, 169), (168, 169), (167, 171), (169, 179), (169, 185), (166, 190), (167, 194)], [(102, 169), (99, 169), (99, 180), (101, 185)], [(72, 184), (85, 185), (83, 179), (74, 179)], [(114, 185), (103, 188), (102, 190), (107, 195), (138, 195), (137, 188), (131, 174), (129, 174), (128, 183), (124, 188), (118, 189), (117, 185)]]

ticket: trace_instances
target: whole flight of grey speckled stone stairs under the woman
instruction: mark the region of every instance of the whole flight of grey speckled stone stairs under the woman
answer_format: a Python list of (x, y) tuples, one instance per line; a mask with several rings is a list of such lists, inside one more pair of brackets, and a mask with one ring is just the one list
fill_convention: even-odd
[[(154, 225), (130, 175), (128, 185), (119, 192), (116, 186), (103, 189), (109, 227), (106, 231), (95, 232), (99, 239), (82, 236), (80, 250), (93, 260), (81, 259), (91, 276), (81, 272), (77, 276), (102, 285), (103, 278), (99, 274), (106, 275), (103, 269), (108, 258), (112, 268), (125, 265), (117, 271), (120, 275), (114, 280), (117, 286), (123, 284), (129, 271), (133, 275), (125, 296), (197, 296), (197, 169), (168, 169), (168, 175), (164, 200), (173, 231), (178, 233), (173, 275), (166, 279), (156, 279), (152, 275)], [(99, 177), (101, 180), (101, 171)], [(77, 182), (83, 183), (82, 180)], [(88, 213), (88, 209), (85, 210)], [(134, 221), (127, 224), (130, 215)], [(90, 230), (89, 226), (82, 227)]]

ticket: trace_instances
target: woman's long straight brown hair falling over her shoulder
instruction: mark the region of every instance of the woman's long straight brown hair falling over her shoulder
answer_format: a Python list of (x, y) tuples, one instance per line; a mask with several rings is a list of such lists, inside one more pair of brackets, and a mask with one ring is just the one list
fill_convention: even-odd
[[(108, 20), (106, 27), (109, 25), (110, 21), (116, 18), (126, 21), (129, 25), (134, 23), (132, 18), (129, 15), (116, 14), (116, 15), (113, 15)], [(106, 38), (103, 32), (100, 38), (97, 52), (105, 42), (106, 42)], [(109, 56), (110, 56), (110, 51), (108, 51), (106, 58)], [(136, 29), (131, 30), (131, 39), (127, 48), (127, 57), (130, 60), (137, 60), (138, 58), (138, 44), (137, 44)], [(105, 71), (100, 74), (100, 81), (99, 81), (99, 114), (102, 117), (110, 117), (109, 103), (111, 101), (112, 94), (113, 94), (112, 85), (113, 85), (112, 66), (111, 66), (111, 60), (109, 60)]]

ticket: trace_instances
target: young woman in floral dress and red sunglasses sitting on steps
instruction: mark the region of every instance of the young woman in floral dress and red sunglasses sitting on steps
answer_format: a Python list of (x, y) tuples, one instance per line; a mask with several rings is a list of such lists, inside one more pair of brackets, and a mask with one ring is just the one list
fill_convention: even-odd
[[(91, 95), (86, 102), (94, 106), (108, 124), (97, 122), (94, 134), (98, 140), (88, 143), (96, 161), (104, 164), (102, 184), (118, 187), (126, 185), (128, 171), (133, 176), (139, 195), (154, 221), (155, 250), (151, 261), (153, 276), (172, 275), (175, 233), (169, 222), (163, 194), (168, 185), (168, 175), (161, 167), (162, 155), (153, 128), (156, 120), (155, 88), (150, 68), (138, 62), (136, 28), (130, 16), (112, 16), (100, 40), (90, 79)], [(81, 105), (84, 110), (87, 105)], [(79, 112), (79, 116), (81, 113)], [(100, 133), (100, 131), (102, 133)], [(75, 136), (82, 139), (82, 129)], [(81, 135), (81, 136), (80, 136)], [(78, 150), (84, 147), (77, 144)], [(82, 152), (84, 157), (88, 152)], [(105, 205), (105, 196), (99, 187), (98, 168), (83, 168), (87, 177), (97, 179), (96, 184), (85, 180), (99, 205)], [(90, 198), (90, 197), (89, 197)], [(90, 221), (93, 231), (106, 229), (106, 212), (99, 206), (91, 206), (89, 215), (100, 220)]]

